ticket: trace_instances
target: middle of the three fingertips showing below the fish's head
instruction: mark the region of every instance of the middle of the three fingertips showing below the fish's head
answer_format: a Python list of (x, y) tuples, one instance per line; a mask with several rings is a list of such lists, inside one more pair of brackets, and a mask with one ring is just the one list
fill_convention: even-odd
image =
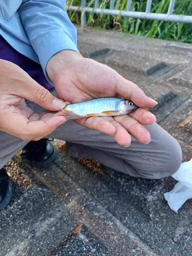
[(129, 115), (116, 116), (114, 119), (119, 122), (126, 131), (140, 143), (148, 144), (151, 141), (150, 133), (137, 120)]

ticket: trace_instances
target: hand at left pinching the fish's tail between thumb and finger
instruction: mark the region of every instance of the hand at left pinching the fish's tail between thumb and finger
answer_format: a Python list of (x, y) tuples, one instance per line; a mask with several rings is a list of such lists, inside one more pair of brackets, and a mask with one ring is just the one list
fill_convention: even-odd
[(51, 111), (66, 104), (10, 61), (0, 59), (0, 84), (0, 131), (23, 140), (39, 140), (66, 122), (58, 113), (38, 115), (26, 106), (24, 99)]

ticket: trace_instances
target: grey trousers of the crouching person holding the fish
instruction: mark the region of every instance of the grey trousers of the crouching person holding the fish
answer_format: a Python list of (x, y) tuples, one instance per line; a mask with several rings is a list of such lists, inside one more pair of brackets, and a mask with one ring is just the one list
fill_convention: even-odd
[[(51, 93), (56, 96), (55, 90)], [(42, 108), (26, 101), (35, 112), (42, 113)], [(152, 141), (139, 143), (132, 138), (129, 147), (116, 143), (113, 136), (90, 130), (69, 120), (60, 125), (45, 138), (65, 140), (69, 156), (98, 160), (105, 166), (134, 177), (160, 179), (175, 173), (182, 161), (179, 143), (158, 124), (148, 125)], [(29, 141), (0, 132), (0, 169)]]

